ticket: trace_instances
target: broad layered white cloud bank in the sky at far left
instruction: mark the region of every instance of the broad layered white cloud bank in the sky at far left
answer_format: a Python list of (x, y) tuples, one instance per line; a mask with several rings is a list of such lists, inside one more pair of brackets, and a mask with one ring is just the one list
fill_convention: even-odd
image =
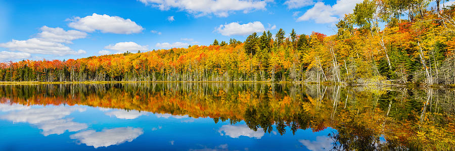
[[(37, 37), (27, 40), (11, 40), (7, 43), (0, 43), (0, 47), (8, 48), (13, 51), (21, 51), (26, 53), (53, 54), (53, 55), (78, 55), (86, 53), (84, 50), (74, 51), (63, 43), (71, 43), (72, 40), (85, 38), (86, 33), (69, 30), (65, 31), (62, 28), (51, 28), (43, 26)], [(16, 54), (22, 57), (28, 56), (26, 53)], [(13, 55), (13, 54), (10, 54)]]

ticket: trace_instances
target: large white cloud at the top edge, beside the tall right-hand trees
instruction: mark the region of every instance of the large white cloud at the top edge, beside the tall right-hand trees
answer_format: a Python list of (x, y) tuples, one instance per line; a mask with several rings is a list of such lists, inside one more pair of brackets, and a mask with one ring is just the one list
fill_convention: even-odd
[(324, 2), (317, 2), (313, 8), (307, 10), (302, 16), (297, 18), (297, 22), (314, 20), (318, 24), (336, 22), (344, 14), (352, 13), (355, 4), (361, 0), (337, 0), (333, 6), (326, 5)]

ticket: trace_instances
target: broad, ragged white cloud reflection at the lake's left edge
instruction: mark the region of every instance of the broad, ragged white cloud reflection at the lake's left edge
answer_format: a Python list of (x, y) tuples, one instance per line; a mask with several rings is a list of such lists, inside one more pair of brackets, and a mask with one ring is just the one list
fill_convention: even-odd
[[(12, 106), (13, 108), (17, 108)], [(6, 119), (13, 122), (26, 122), (36, 125), (42, 129), (44, 136), (50, 134), (62, 134), (65, 131), (79, 131), (87, 128), (84, 123), (73, 122), (72, 119), (63, 119), (74, 111), (83, 112), (84, 108), (79, 107), (44, 107), (44, 108), (26, 108), (20, 111), (10, 112), (0, 116), (0, 119)]]

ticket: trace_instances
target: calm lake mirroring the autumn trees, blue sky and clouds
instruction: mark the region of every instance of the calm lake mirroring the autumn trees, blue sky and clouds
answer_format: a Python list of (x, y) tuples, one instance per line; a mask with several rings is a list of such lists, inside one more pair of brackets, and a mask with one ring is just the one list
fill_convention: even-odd
[(455, 149), (455, 90), (2, 85), (0, 103), (0, 150)]

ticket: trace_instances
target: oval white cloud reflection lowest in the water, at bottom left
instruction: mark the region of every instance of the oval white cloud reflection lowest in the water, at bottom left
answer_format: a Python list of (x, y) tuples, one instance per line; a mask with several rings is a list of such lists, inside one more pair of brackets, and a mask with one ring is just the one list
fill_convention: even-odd
[(119, 127), (112, 129), (103, 129), (102, 131), (86, 130), (70, 135), (71, 139), (77, 139), (80, 143), (95, 148), (121, 144), (126, 141), (131, 142), (138, 136), (142, 135), (142, 128)]

